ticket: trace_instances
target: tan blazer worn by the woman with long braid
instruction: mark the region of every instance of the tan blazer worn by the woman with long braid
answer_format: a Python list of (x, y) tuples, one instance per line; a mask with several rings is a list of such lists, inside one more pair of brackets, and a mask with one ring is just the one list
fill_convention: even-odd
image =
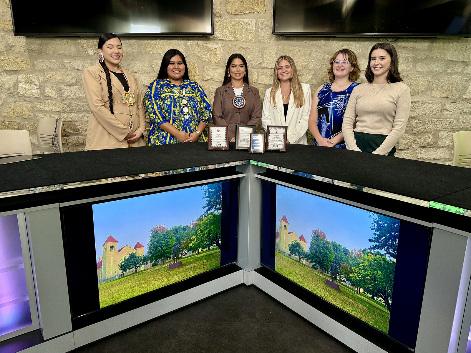
[(144, 146), (146, 136), (146, 111), (139, 90), (138, 79), (131, 72), (122, 69), (129, 81), (130, 91), (136, 102), (129, 107), (122, 103), (124, 93), (120, 80), (110, 72), (113, 93), (113, 110), (110, 112), (108, 86), (103, 67), (97, 63), (87, 68), (82, 75), (83, 90), (91, 109), (87, 128), (87, 150), (104, 150), (108, 148), (128, 147), (124, 139), (129, 132), (130, 115), (132, 115), (132, 131), (140, 130), (142, 138), (131, 144), (132, 147)]

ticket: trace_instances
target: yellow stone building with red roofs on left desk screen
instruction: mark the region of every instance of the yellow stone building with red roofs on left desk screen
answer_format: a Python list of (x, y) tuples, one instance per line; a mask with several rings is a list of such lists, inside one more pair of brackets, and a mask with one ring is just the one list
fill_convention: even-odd
[(130, 245), (125, 245), (118, 249), (118, 241), (114, 239), (111, 234), (102, 245), (103, 253), (98, 258), (97, 262), (97, 277), (98, 281), (105, 281), (106, 279), (120, 275), (121, 270), (119, 265), (123, 258), (129, 254), (135, 253), (144, 256), (144, 246), (137, 242), (134, 248)]

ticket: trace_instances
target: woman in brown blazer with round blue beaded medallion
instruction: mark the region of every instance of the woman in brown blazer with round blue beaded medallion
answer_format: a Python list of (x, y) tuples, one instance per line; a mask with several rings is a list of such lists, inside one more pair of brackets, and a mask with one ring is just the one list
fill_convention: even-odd
[[(232, 103), (235, 96), (245, 98), (244, 107), (235, 107)], [(222, 86), (214, 94), (212, 121), (214, 125), (227, 126), (229, 139), (235, 141), (235, 124), (258, 127), (261, 117), (260, 93), (249, 85), (247, 61), (241, 54), (232, 54), (227, 59)]]

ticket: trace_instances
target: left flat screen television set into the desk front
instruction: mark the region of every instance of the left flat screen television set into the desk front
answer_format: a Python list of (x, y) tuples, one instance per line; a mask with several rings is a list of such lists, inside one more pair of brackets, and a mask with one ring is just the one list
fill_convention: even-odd
[(81, 327), (104, 320), (235, 263), (237, 204), (238, 180), (229, 180), (64, 207), (75, 328), (77, 318)]

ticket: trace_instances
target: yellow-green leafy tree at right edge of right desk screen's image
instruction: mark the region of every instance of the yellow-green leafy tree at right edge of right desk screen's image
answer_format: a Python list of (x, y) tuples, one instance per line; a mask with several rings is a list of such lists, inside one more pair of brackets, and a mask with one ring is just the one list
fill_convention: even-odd
[(382, 255), (368, 254), (359, 259), (358, 267), (352, 268), (351, 277), (373, 297), (380, 297), (391, 311), (392, 286), (396, 263)]

